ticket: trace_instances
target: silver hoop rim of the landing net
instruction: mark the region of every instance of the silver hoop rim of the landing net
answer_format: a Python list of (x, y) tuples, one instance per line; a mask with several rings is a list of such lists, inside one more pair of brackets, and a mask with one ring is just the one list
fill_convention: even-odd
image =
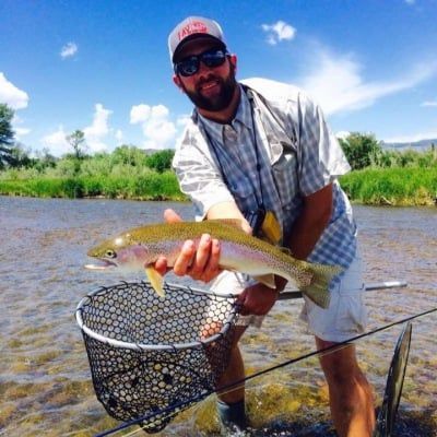
[[(122, 284), (138, 285), (139, 283), (138, 282), (122, 282)], [(144, 281), (140, 282), (140, 284), (150, 286), (150, 284)], [(102, 335), (102, 334), (91, 330), (83, 322), (82, 310), (83, 310), (83, 307), (88, 305), (95, 296), (102, 296), (102, 295), (110, 292), (110, 288), (119, 286), (119, 285), (120, 285), (120, 283), (115, 284), (115, 285), (109, 285), (109, 286), (101, 286), (101, 287), (90, 292), (85, 297), (83, 297), (81, 299), (81, 302), (78, 304), (78, 307), (75, 309), (75, 320), (76, 320), (79, 327), (81, 328), (81, 330), (83, 332), (85, 332), (88, 336), (91, 336), (92, 339), (95, 339), (101, 343), (111, 345), (114, 347), (130, 349), (132, 351), (139, 351), (139, 352), (141, 352), (141, 351), (180, 351), (180, 350), (186, 350), (186, 349), (203, 347), (204, 345), (213, 343), (213, 342), (217, 341), (220, 338), (222, 338), (223, 335), (225, 335), (232, 326), (232, 321), (237, 316), (237, 307), (234, 305), (229, 311), (229, 315), (227, 316), (226, 320), (224, 321), (223, 327), (220, 330), (220, 332), (209, 336), (205, 340), (199, 340), (199, 341), (190, 342), (190, 343), (143, 344), (143, 343), (130, 343), (130, 342), (125, 342), (121, 340), (109, 339), (108, 336)], [(217, 299), (222, 299), (222, 298), (229, 299), (231, 298), (231, 299), (234, 299), (234, 302), (235, 302), (235, 299), (237, 297), (236, 295), (233, 295), (233, 294), (226, 294), (226, 295), (220, 294), (218, 295), (213, 292), (203, 291), (200, 288), (192, 288), (189, 286), (175, 285), (175, 284), (166, 284), (165, 286), (172, 287), (172, 288), (185, 288), (186, 291), (189, 291), (193, 294), (205, 294), (205, 295), (215, 297)]]

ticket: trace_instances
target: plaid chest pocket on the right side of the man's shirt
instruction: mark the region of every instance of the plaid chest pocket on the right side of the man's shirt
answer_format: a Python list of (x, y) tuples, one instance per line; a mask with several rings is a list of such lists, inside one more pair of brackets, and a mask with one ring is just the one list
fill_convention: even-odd
[(282, 208), (287, 208), (298, 193), (296, 152), (284, 147), (279, 160), (272, 165), (273, 180)]

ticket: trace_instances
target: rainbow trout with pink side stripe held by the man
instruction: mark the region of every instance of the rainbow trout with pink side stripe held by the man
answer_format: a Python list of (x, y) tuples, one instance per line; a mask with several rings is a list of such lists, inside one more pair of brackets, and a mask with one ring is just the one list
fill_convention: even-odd
[(290, 251), (272, 246), (241, 231), (234, 221), (210, 220), (204, 222), (160, 223), (127, 231), (88, 250), (102, 264), (87, 264), (92, 270), (115, 268), (144, 270), (153, 288), (163, 292), (163, 277), (154, 269), (160, 256), (173, 267), (182, 244), (191, 239), (199, 244), (202, 234), (210, 234), (221, 243), (220, 267), (223, 270), (249, 274), (274, 288), (279, 275), (294, 284), (303, 294), (322, 308), (329, 305), (328, 285), (342, 271), (336, 265), (315, 264), (293, 258)]

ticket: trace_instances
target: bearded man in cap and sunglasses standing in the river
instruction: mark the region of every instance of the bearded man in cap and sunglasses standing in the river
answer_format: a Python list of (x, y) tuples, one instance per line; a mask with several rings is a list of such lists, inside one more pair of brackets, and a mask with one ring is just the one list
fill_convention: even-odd
[[(302, 318), (318, 349), (362, 332), (366, 316), (356, 227), (336, 180), (350, 167), (320, 108), (292, 86), (272, 81), (258, 81), (252, 87), (238, 83), (237, 58), (228, 54), (214, 21), (184, 20), (170, 33), (168, 45), (173, 80), (194, 105), (174, 167), (197, 218), (239, 218), (245, 232), (288, 247), (296, 258), (343, 267), (344, 272), (329, 286), (329, 308), (305, 298)], [(165, 218), (180, 220), (170, 210)], [(220, 241), (203, 235), (198, 247), (185, 243), (174, 272), (214, 280), (212, 287), (218, 292), (240, 293), (241, 312), (249, 321), (265, 315), (284, 281), (276, 279), (276, 290), (272, 290), (244, 275), (221, 272), (218, 257)], [(166, 260), (160, 259), (156, 269), (165, 272)], [(375, 424), (371, 390), (354, 346), (327, 354), (320, 363), (338, 434), (370, 436)], [(218, 387), (243, 378), (243, 359), (235, 345)], [(244, 397), (244, 387), (218, 394), (225, 426), (245, 427)]]

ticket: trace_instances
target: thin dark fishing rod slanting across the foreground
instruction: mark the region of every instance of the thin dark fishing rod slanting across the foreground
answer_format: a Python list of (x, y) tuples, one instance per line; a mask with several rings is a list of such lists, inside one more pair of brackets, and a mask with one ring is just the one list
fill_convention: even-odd
[[(361, 339), (364, 339), (366, 336), (369, 336), (369, 335), (376, 334), (378, 332), (385, 331), (387, 329), (390, 329), (390, 328), (392, 328), (392, 327), (394, 327), (397, 324), (403, 324), (403, 323), (405, 323), (408, 321), (411, 321), (411, 320), (414, 320), (414, 319), (418, 319), (420, 317), (424, 317), (424, 316), (430, 315), (432, 312), (436, 312), (436, 311), (437, 311), (437, 307), (428, 309), (428, 310), (423, 311), (423, 312), (418, 312), (416, 315), (406, 317), (406, 318), (401, 319), (401, 320), (393, 321), (391, 323), (385, 324), (385, 326), (382, 326), (380, 328), (376, 328), (376, 329), (374, 329), (371, 331), (368, 331), (368, 332), (365, 332), (363, 334), (352, 336), (349, 340), (345, 340), (345, 341), (340, 342), (340, 343), (335, 343), (335, 344), (333, 344), (331, 346), (323, 347), (323, 349), (318, 350), (318, 351), (309, 352), (308, 354), (300, 355), (297, 358), (287, 359), (287, 361), (285, 361), (283, 363), (276, 364), (274, 366), (268, 367), (268, 368), (265, 368), (263, 370), (260, 370), (260, 371), (257, 371), (257, 373), (255, 373), (252, 375), (249, 375), (249, 376), (247, 376), (247, 377), (245, 377), (245, 378), (243, 378), (243, 379), (240, 379), (240, 380), (238, 380), (236, 382), (229, 383), (228, 386), (225, 386), (220, 390), (212, 390), (210, 393), (208, 393), (208, 395), (210, 395), (212, 393), (216, 393), (216, 392), (232, 391), (233, 389), (236, 389), (237, 387), (241, 386), (246, 381), (249, 381), (249, 380), (251, 380), (253, 378), (258, 378), (258, 377), (260, 377), (262, 375), (265, 375), (265, 374), (268, 374), (270, 371), (280, 369), (280, 368), (288, 366), (291, 364), (298, 363), (299, 361), (303, 361), (303, 359), (306, 359), (306, 358), (310, 358), (312, 356), (317, 356), (317, 355), (323, 356), (329, 352), (334, 352), (334, 351), (336, 351), (339, 349), (347, 346), (349, 343), (351, 343), (351, 342), (355, 342), (357, 340), (361, 340)], [(199, 401), (203, 400), (204, 398), (205, 398), (205, 395), (203, 394), (203, 395), (193, 397), (193, 398), (191, 398), (189, 400), (186, 400), (184, 402), (177, 402), (176, 404), (170, 405), (170, 406), (168, 406), (166, 409), (160, 410), (160, 411), (154, 412), (152, 414), (149, 414), (149, 415), (145, 415), (145, 416), (142, 416), (142, 417), (129, 421), (129, 422), (125, 422), (125, 423), (122, 423), (121, 425), (119, 425), (119, 426), (117, 426), (115, 428), (111, 428), (111, 429), (105, 430), (103, 433), (96, 434), (95, 437), (109, 436), (111, 434), (115, 434), (115, 433), (118, 433), (118, 432), (120, 432), (122, 429), (126, 429), (126, 428), (128, 428), (130, 426), (139, 425), (139, 424), (141, 424), (141, 422), (150, 421), (153, 417), (155, 417), (157, 415), (161, 415), (161, 414), (168, 413), (167, 416), (176, 415), (178, 413), (178, 411), (177, 411), (178, 408), (181, 408), (181, 406), (184, 406), (184, 405), (186, 405), (188, 403), (199, 402)]]

